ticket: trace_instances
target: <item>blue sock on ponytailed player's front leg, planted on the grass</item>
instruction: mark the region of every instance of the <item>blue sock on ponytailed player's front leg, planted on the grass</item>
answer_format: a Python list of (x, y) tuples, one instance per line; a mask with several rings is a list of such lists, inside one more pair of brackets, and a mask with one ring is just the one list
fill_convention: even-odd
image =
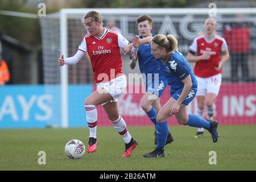
[(168, 125), (167, 121), (163, 123), (156, 124), (156, 138), (158, 139), (158, 144), (156, 148), (160, 150), (164, 150), (164, 146), (166, 145), (166, 139), (168, 135)]

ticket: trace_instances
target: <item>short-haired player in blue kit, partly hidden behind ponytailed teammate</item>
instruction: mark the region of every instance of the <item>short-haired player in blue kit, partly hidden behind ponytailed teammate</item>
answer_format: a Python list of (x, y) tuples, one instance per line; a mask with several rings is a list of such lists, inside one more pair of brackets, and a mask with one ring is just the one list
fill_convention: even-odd
[[(138, 31), (141, 39), (149, 36), (155, 36), (151, 34), (152, 19), (148, 15), (142, 15), (137, 18)], [(136, 61), (139, 61), (139, 69), (143, 75), (144, 84), (146, 86), (146, 93), (142, 97), (141, 107), (146, 112), (148, 118), (154, 123), (156, 128), (156, 115), (160, 110), (159, 97), (162, 96), (164, 89), (166, 89), (166, 78), (158, 69), (155, 57), (151, 54), (150, 44), (142, 44), (139, 46), (138, 52), (131, 56), (130, 67), (135, 68)], [(155, 80), (156, 78), (156, 80)], [(168, 131), (167, 143), (171, 143), (174, 139)], [(155, 141), (156, 144), (156, 132)]]

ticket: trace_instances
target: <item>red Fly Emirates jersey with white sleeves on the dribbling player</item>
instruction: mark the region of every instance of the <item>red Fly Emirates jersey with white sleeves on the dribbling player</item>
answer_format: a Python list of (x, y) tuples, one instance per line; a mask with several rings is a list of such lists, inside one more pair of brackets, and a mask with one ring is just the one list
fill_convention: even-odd
[(101, 37), (89, 33), (85, 35), (79, 50), (88, 52), (96, 83), (112, 80), (122, 74), (120, 48), (128, 44), (129, 41), (126, 38), (108, 28), (104, 28), (104, 34)]

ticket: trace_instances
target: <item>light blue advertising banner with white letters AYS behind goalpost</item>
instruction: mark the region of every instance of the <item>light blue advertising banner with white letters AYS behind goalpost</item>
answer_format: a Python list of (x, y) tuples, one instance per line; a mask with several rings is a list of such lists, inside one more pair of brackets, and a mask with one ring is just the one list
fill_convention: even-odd
[[(69, 127), (86, 127), (84, 100), (92, 85), (68, 87)], [(0, 128), (61, 126), (59, 85), (0, 86)]]

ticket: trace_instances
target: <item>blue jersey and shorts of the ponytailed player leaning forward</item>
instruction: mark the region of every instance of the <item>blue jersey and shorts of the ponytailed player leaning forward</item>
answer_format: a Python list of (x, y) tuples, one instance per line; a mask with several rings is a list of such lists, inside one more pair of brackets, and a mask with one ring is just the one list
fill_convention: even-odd
[(179, 51), (175, 51), (169, 57), (166, 64), (163, 64), (163, 60), (159, 59), (158, 66), (162, 74), (166, 77), (168, 85), (171, 86), (170, 93), (175, 100), (179, 98), (183, 90), (184, 83), (182, 80), (188, 75), (191, 76), (192, 87), (187, 98), (185, 98), (183, 102), (183, 104), (188, 105), (196, 96), (197, 81), (185, 57)]

